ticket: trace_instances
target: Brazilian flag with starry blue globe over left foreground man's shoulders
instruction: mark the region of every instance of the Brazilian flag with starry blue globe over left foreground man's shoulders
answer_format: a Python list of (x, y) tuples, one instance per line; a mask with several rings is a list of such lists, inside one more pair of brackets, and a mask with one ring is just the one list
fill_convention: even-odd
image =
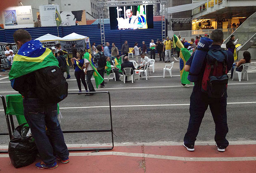
[(39, 40), (31, 40), (23, 44), (14, 56), (12, 69), (9, 72), (9, 80), (48, 66), (59, 67), (57, 58)]

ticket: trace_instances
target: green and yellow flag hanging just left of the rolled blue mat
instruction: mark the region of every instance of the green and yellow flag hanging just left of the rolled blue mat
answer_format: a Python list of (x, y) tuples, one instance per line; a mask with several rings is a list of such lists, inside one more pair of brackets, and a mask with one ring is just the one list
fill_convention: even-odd
[(190, 81), (187, 79), (189, 72), (185, 72), (185, 64), (187, 60), (190, 59), (190, 52), (187, 48), (181, 48), (180, 51), (180, 80), (183, 84), (190, 84)]

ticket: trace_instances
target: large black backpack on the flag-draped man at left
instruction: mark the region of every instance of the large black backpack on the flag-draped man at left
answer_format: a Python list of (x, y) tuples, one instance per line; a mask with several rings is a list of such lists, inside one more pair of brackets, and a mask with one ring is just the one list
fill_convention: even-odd
[(35, 72), (36, 94), (47, 104), (57, 104), (68, 96), (68, 83), (57, 66), (39, 69)]

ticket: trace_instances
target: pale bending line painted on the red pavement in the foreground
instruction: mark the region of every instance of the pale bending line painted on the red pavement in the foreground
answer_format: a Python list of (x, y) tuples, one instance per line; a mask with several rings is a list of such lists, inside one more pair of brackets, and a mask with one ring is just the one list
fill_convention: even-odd
[[(69, 156), (128, 156), (128, 157), (145, 157), (152, 159), (166, 159), (166, 160), (178, 160), (178, 161), (255, 161), (256, 157), (178, 157), (167, 155), (152, 155), (144, 153), (132, 153), (132, 152), (70, 152)], [(6, 158), (9, 155), (0, 155), (0, 158)]]

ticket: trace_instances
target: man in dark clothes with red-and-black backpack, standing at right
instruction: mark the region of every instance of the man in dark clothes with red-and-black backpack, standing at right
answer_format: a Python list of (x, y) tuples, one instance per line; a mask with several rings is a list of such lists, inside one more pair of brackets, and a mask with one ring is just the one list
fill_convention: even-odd
[(196, 54), (194, 52), (185, 65), (185, 70), (189, 72), (190, 68), (194, 68), (192, 67), (193, 58), (204, 58), (198, 80), (194, 83), (194, 88), (190, 96), (190, 120), (183, 143), (183, 146), (188, 151), (194, 151), (194, 142), (197, 139), (199, 127), (208, 106), (211, 109), (215, 122), (217, 150), (224, 152), (229, 144), (226, 139), (226, 134), (228, 133), (226, 110), (227, 73), (232, 67), (234, 57), (230, 51), (220, 48), (223, 43), (223, 32), (221, 30), (213, 30), (210, 38), (213, 42), (209, 49), (204, 47), (205, 45), (201, 43), (201, 40), (198, 43), (203, 48), (198, 48), (197, 51), (208, 51), (206, 57), (194, 57)]

